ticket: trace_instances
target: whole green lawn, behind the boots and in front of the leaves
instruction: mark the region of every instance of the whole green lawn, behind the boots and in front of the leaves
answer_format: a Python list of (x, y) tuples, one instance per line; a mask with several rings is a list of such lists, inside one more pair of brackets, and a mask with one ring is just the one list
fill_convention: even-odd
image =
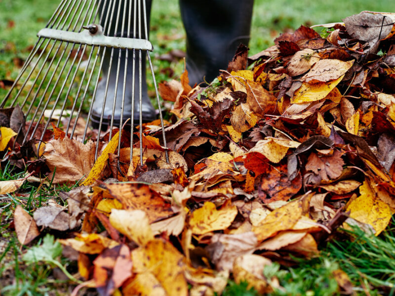
[[(21, 61), (26, 59), (30, 46), (36, 41), (37, 32), (45, 26), (57, 4), (57, 1), (49, 0), (0, 0), (0, 81), (15, 79)], [(273, 45), (274, 38), (280, 33), (296, 29), (301, 24), (336, 22), (362, 10), (395, 12), (395, 1), (255, 0), (250, 54)], [(183, 61), (178, 59), (168, 62), (160, 59), (161, 55), (173, 49), (185, 50), (185, 34), (178, 1), (154, 0), (151, 41), (155, 47), (153, 57), (157, 80), (178, 78), (184, 68)], [(149, 86), (152, 91), (152, 81)], [(6, 91), (0, 84), (0, 101)], [(10, 174), (10, 171), (9, 165), (2, 164), (0, 181), (22, 178), (24, 173), (15, 175)], [(51, 264), (51, 261), (32, 262), (22, 258), (25, 250), (31, 247), (22, 247), (10, 229), (13, 227), (12, 219), (16, 205), (23, 205), (31, 212), (53, 198), (64, 206), (59, 198), (59, 191), (69, 191), (72, 188), (73, 186), (51, 187), (25, 183), (20, 188), (23, 194), (0, 196), (1, 295), (70, 294), (72, 288), (67, 278), (64, 278), (64, 274)], [(333, 272), (339, 268), (349, 275), (354, 285), (354, 295), (395, 295), (394, 231), (394, 219), (379, 237), (366, 235), (356, 228), (351, 233), (355, 237), (352, 243), (349, 239), (339, 238), (338, 241), (320, 246), (319, 257), (301, 260), (294, 266), (273, 264), (265, 269), (265, 276), (276, 276), (280, 285), (284, 287), (284, 290), (275, 291), (273, 295), (339, 295), (338, 284), (333, 278)], [(48, 235), (44, 240), (50, 242), (51, 239)], [(42, 237), (34, 241), (33, 245), (40, 246), (41, 243)], [(57, 264), (62, 264), (62, 268), (66, 266), (70, 272), (77, 271), (75, 261), (65, 259), (59, 254), (57, 259)], [(243, 283), (236, 285), (230, 282), (223, 295), (247, 296), (257, 293), (247, 290)]]

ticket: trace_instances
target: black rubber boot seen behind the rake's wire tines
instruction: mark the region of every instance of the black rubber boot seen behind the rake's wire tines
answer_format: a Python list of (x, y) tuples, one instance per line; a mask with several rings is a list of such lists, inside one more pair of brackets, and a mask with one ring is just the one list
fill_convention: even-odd
[[(128, 19), (125, 17), (125, 24), (124, 24), (124, 31), (122, 34), (122, 18), (123, 18), (123, 7), (124, 7), (124, 0), (115, 0), (115, 9), (114, 9), (114, 16), (112, 20), (112, 25), (110, 29), (110, 34), (107, 34), (107, 28), (110, 23), (110, 17), (112, 12), (112, 7), (101, 7), (100, 12), (103, 11), (103, 17), (101, 21), (101, 25), (104, 28), (104, 34), (107, 36), (116, 36), (116, 37), (127, 37), (127, 25)], [(129, 3), (129, 1), (127, 1)], [(134, 1), (133, 1), (134, 2)], [(150, 24), (150, 12), (151, 12), (151, 0), (146, 0), (146, 10), (147, 10), (147, 27), (149, 30)], [(116, 21), (117, 21), (117, 12), (118, 12), (118, 5), (120, 5), (120, 13), (119, 13), (119, 20), (118, 20), (118, 28), (117, 32), (115, 32)], [(108, 6), (108, 5), (107, 5)], [(126, 15), (128, 14), (129, 7), (126, 6)], [(132, 7), (132, 11), (133, 11)], [(142, 9), (142, 8), (141, 8)], [(109, 18), (107, 24), (105, 24), (106, 14), (109, 13)], [(144, 34), (144, 20), (143, 16), (141, 17), (142, 22), (142, 38), (145, 38)], [(130, 28), (130, 37), (133, 37), (133, 23), (134, 20), (130, 20), (131, 28)], [(138, 20), (136, 24), (136, 37), (138, 38)], [(103, 113), (103, 123), (102, 129), (107, 129), (110, 125), (111, 117), (113, 113), (113, 104), (114, 99), (115, 101), (115, 112), (114, 112), (114, 127), (119, 126), (120, 122), (120, 115), (122, 113), (122, 96), (123, 96), (123, 77), (124, 77), (124, 69), (125, 69), (125, 62), (126, 62), (126, 51), (128, 52), (128, 62), (127, 62), (127, 70), (126, 70), (126, 83), (125, 83), (125, 98), (124, 98), (124, 108), (123, 108), (123, 117), (122, 122), (125, 122), (126, 119), (131, 117), (131, 110), (132, 110), (132, 79), (133, 79), (133, 50), (121, 50), (120, 55), (120, 66), (119, 66), (119, 74), (118, 74), (118, 88), (117, 88), (117, 95), (114, 98), (115, 88), (117, 86), (116, 79), (117, 79), (117, 69), (118, 69), (118, 56), (119, 56), (119, 49), (115, 48), (113, 52), (113, 56), (111, 56), (111, 48), (106, 49), (106, 53), (103, 57), (103, 67), (102, 67), (102, 79), (100, 80), (96, 95), (94, 98), (94, 103), (92, 107), (91, 113), (91, 121), (92, 126), (94, 128), (99, 127), (100, 117), (102, 114), (103, 102), (106, 93), (106, 83), (109, 80), (107, 96), (106, 96), (106, 103)], [(139, 124), (139, 50), (136, 50), (136, 63), (135, 63), (135, 84), (134, 84), (134, 125)], [(142, 51), (142, 118), (143, 122), (150, 122), (156, 119), (155, 109), (151, 104), (150, 98), (148, 97), (147, 93), (147, 81), (146, 81), (146, 53)], [(111, 62), (112, 61), (112, 62)], [(110, 62), (111, 62), (111, 69), (110, 69)], [(110, 78), (109, 78), (110, 77)]]

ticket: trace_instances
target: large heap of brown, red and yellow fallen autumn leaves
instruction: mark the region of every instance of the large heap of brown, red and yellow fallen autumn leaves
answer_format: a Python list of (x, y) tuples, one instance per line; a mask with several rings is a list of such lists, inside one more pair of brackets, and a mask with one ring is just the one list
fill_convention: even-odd
[[(174, 102), (167, 148), (158, 122), (144, 124), (143, 165), (127, 130), (118, 151), (118, 130), (96, 148), (54, 127), (34, 160), (38, 144), (18, 146), (1, 127), (6, 160), (30, 161), (2, 194), (25, 179), (80, 184), (60, 194), (66, 207), (50, 200), (33, 218), (17, 207), (18, 239), (63, 231), (84, 279), (74, 294), (214, 295), (229, 278), (281, 289), (265, 265), (318, 255), (339, 226), (378, 235), (395, 212), (394, 20), (363, 12), (327, 25), (326, 38), (302, 26), (249, 58), (240, 46), (207, 87), (187, 72), (161, 83)], [(344, 272), (333, 277), (352, 293)]]

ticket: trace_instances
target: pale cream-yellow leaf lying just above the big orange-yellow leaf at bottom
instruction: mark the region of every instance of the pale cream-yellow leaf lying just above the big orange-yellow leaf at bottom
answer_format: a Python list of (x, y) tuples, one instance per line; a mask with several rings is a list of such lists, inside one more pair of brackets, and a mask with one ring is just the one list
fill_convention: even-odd
[(110, 223), (120, 233), (140, 246), (154, 239), (147, 215), (141, 210), (116, 210), (110, 215)]

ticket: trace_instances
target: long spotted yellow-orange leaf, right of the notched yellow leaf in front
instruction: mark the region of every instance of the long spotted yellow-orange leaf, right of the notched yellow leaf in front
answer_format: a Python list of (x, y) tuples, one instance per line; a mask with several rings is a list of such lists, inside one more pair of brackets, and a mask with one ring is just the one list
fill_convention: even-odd
[(291, 201), (271, 212), (258, 226), (252, 226), (252, 231), (263, 241), (276, 235), (279, 231), (288, 230), (302, 217), (303, 201)]

